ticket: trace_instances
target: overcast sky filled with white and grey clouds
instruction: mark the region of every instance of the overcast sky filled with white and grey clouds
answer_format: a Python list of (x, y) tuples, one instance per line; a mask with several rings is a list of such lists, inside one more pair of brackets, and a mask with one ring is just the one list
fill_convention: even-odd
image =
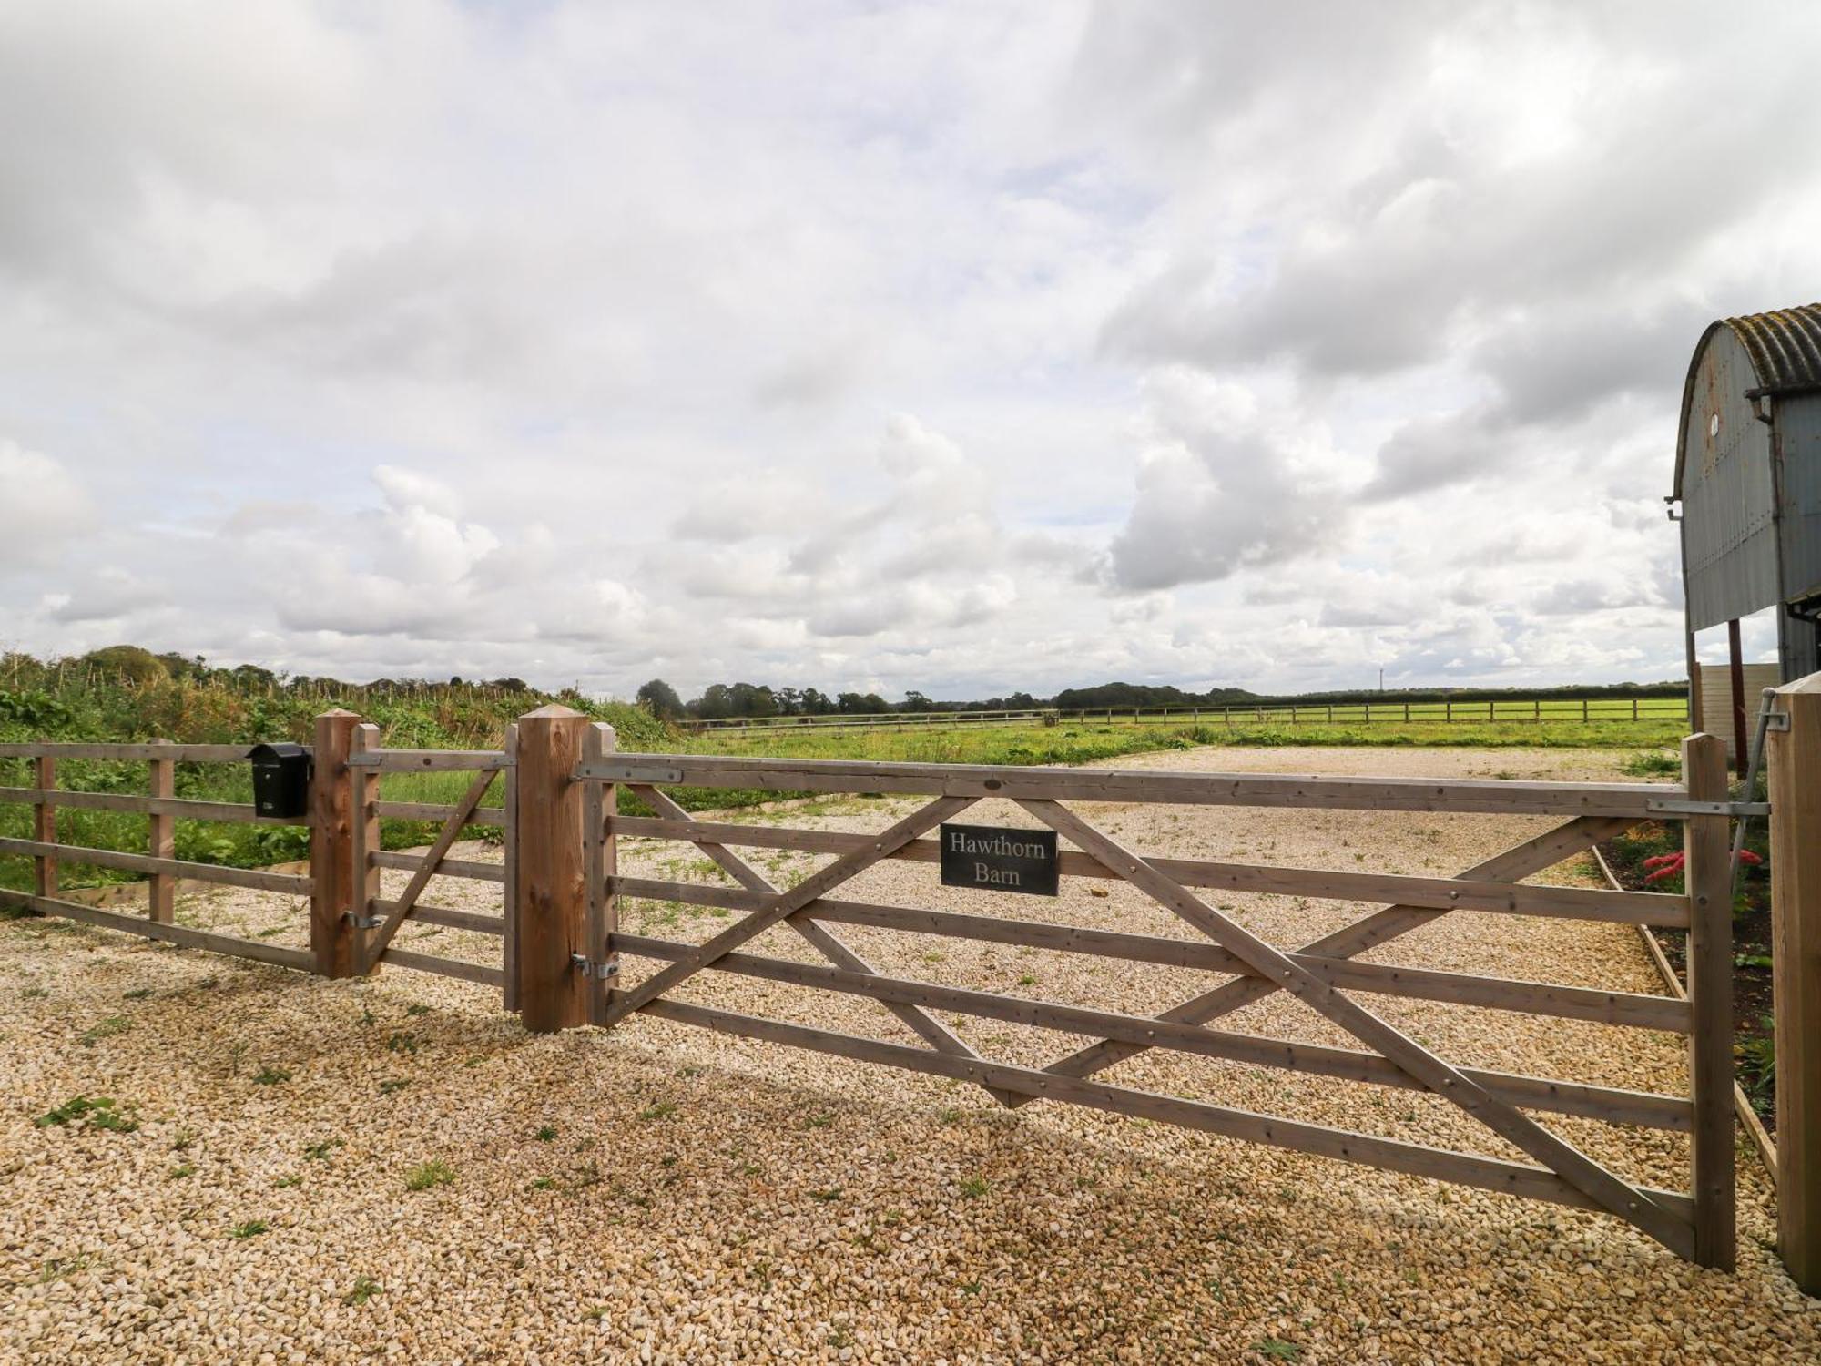
[(1821, 299), (1817, 58), (1786, 4), (11, 0), (0, 648), (1681, 678), (1681, 386)]

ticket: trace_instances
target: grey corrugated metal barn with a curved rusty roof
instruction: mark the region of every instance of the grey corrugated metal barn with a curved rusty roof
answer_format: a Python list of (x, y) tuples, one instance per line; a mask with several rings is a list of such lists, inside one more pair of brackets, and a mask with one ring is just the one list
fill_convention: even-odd
[[(1695, 632), (1777, 610), (1783, 681), (1821, 670), (1821, 304), (1712, 324), (1695, 344), (1675, 441), (1688, 678)], [(1743, 721), (1743, 718), (1741, 718)]]

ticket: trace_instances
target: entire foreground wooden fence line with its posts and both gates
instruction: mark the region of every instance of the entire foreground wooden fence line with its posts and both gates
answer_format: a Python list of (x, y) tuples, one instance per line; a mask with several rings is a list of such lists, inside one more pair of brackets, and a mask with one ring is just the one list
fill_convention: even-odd
[[(1816, 696), (1821, 696), (1817, 692)], [(1812, 699), (1812, 698), (1810, 698)], [(1806, 705), (1806, 703), (1805, 703)], [(1810, 708), (1814, 710), (1814, 708)], [(1821, 790), (1821, 714), (1794, 727), (1772, 780), (1777, 792), (1777, 867), (1806, 869), (1788, 896), (1779, 883), (1779, 916), (1801, 911), (1799, 963), (1808, 963), (1821, 934), (1814, 869), (1816, 794)], [(1063, 1100), (1122, 1115), (1165, 1120), (1211, 1133), (1295, 1151), (1364, 1162), (1437, 1180), (1508, 1191), (1566, 1206), (1602, 1209), (1661, 1240), (1683, 1257), (1730, 1268), (1734, 1260), (1734, 1127), (1732, 1127), (1732, 898), (1724, 745), (1694, 736), (1683, 745), (1681, 783), (1542, 783), (1491, 780), (1326, 778), (1280, 774), (1204, 774), (1111, 769), (1020, 769), (987, 765), (856, 763), (696, 754), (619, 754), (610, 727), (544, 707), (519, 719), (503, 750), (384, 749), (377, 732), (348, 712), (317, 721), (310, 810), (299, 821), (311, 836), (311, 872), (277, 874), (224, 869), (171, 858), (175, 820), (259, 820), (251, 807), (178, 801), (171, 763), (229, 763), (235, 747), (211, 745), (0, 745), (0, 758), (31, 758), (33, 787), (0, 789), (0, 801), (29, 803), (36, 812), (33, 840), (4, 840), (0, 854), (33, 860), (33, 892), (4, 892), (31, 911), (69, 916), (111, 929), (204, 947), (328, 976), (355, 976), (382, 963), (444, 973), (497, 985), (508, 1009), (530, 1029), (579, 1024), (612, 1027), (636, 1013), (765, 1038), (819, 1053), (951, 1076), (985, 1087), (1009, 1107), (1034, 1098)], [(60, 758), (133, 759), (151, 767), (146, 796), (69, 792), (56, 783)], [(379, 789), (395, 772), (472, 772), (455, 803), (386, 801)], [(488, 785), (504, 774), (501, 807), (481, 805)], [(923, 805), (887, 829), (856, 834), (788, 823), (732, 823), (690, 816), (666, 789), (759, 789), (783, 794), (907, 794)], [(652, 814), (621, 814), (621, 789)], [(1062, 878), (1124, 880), (1202, 933), (1176, 940), (1040, 920), (1003, 918), (916, 905), (841, 900), (838, 891), (881, 860), (940, 861), (929, 838), (980, 801), (1011, 801), (1022, 832), (1058, 840)], [(1071, 809), (1071, 801), (1233, 805), (1266, 810), (1426, 810), (1464, 814), (1555, 816), (1561, 823), (1460, 872), (1391, 876), (1360, 871), (1291, 869), (1198, 858), (1160, 858), (1122, 845)], [(56, 841), (56, 807), (95, 805), (148, 816), (148, 851), (78, 849)], [(1797, 816), (1797, 812), (1805, 812)], [(386, 852), (381, 820), (437, 820), (443, 827), (426, 852)], [(1641, 821), (1684, 821), (1686, 894), (1626, 892), (1535, 885), (1526, 878), (1559, 865)], [(457, 834), (472, 823), (504, 831), (504, 863), (450, 858)], [(621, 876), (623, 836), (683, 841), (727, 874), (725, 882), (683, 882)], [(1067, 847), (1062, 847), (1067, 841)], [(818, 871), (779, 887), (738, 849), (787, 849), (832, 856)], [(151, 874), (149, 912), (126, 916), (58, 896), (58, 858)], [(384, 898), (382, 869), (410, 872), (397, 898)], [(483, 916), (422, 900), (433, 876), (499, 883), (503, 914)], [(171, 882), (195, 878), (235, 887), (310, 898), (311, 949), (286, 949), (173, 923)], [(1317, 938), (1277, 947), (1251, 934), (1211, 905), (1198, 889), (1373, 902), (1380, 909)], [(619, 929), (619, 898), (659, 898), (723, 911), (739, 918), (705, 943), (685, 943)], [(1786, 905), (1788, 903), (1788, 905)], [(1664, 925), (1688, 931), (1688, 1000), (1619, 993), (1535, 980), (1493, 978), (1360, 962), (1368, 949), (1389, 943), (1455, 911), (1511, 916)], [(432, 958), (393, 947), (406, 920), (481, 931), (501, 938), (497, 967)], [(812, 945), (827, 965), (752, 953), (747, 945), (783, 925)], [(1224, 980), (1156, 1014), (1089, 1009), (1027, 996), (947, 987), (885, 976), (836, 933), (836, 925), (969, 938), (1204, 969)], [(1781, 933), (1781, 931), (1779, 931)], [(1805, 947), (1806, 945), (1806, 947)], [(1781, 942), (1779, 942), (1781, 954)], [(648, 971), (632, 980), (626, 960)], [(1783, 958), (1779, 956), (1779, 973)], [(1806, 971), (1806, 967), (1805, 967)], [(923, 1047), (845, 1035), (783, 1020), (747, 1016), (717, 1005), (679, 1000), (676, 989), (701, 973), (734, 973), (785, 982), (885, 1005)], [(1346, 1031), (1360, 1047), (1328, 1047), (1216, 1027), (1224, 1016), (1287, 991)], [(1779, 978), (1781, 991), (1781, 978)], [(1805, 1009), (1814, 1011), (1814, 980), (1803, 978)], [(1402, 996), (1460, 1005), (1521, 1011), (1546, 1018), (1597, 1020), (1610, 1025), (1673, 1031), (1688, 1036), (1690, 1095), (1657, 1095), (1530, 1076), (1448, 1062), (1364, 1005), (1358, 996)], [(1781, 1013), (1779, 1002), (1779, 1013)], [(1038, 1025), (1096, 1042), (1056, 1056), (1043, 1067), (980, 1056), (936, 1013), (972, 1014)], [(1806, 1016), (1805, 1016), (1806, 1018)], [(1480, 1120), (1530, 1160), (1513, 1162), (1377, 1135), (1326, 1127), (1297, 1118), (1253, 1115), (1218, 1104), (1138, 1091), (1096, 1076), (1145, 1049), (1240, 1060), (1318, 1076), (1428, 1091)], [(1814, 1042), (1779, 1033), (1779, 1096), (1792, 1113), (1779, 1126), (1779, 1146), (1814, 1142), (1821, 1109), (1799, 1080), (1816, 1067)], [(1788, 1087), (1788, 1089), (1785, 1089)], [(1610, 1124), (1688, 1133), (1692, 1173), (1686, 1191), (1637, 1186), (1588, 1158), (1533, 1113), (1573, 1115)], [(1805, 1127), (1808, 1126), (1808, 1127)], [(1785, 1158), (1788, 1162), (1788, 1158)], [(1785, 1182), (1803, 1188), (1803, 1157)], [(1794, 1175), (1792, 1175), (1794, 1173)], [(1814, 1182), (1814, 1177), (1806, 1180)], [(1821, 1204), (1816, 1206), (1821, 1209)], [(1821, 1228), (1821, 1226), (1817, 1226)], [(1792, 1237), (1786, 1229), (1786, 1239)]]

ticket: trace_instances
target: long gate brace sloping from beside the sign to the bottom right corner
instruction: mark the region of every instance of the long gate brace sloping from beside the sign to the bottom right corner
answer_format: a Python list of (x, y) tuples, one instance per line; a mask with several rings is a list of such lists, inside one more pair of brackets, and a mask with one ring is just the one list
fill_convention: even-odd
[(1111, 869), (1120, 869), (1133, 885), (1200, 929), (1222, 949), (1242, 958), (1297, 1000), (1346, 1029), (1413, 1080), (1460, 1106), (1501, 1138), (1530, 1153), (1602, 1208), (1639, 1226), (1672, 1249), (1694, 1251), (1694, 1226), (1686, 1218), (1659, 1206), (1635, 1186), (1619, 1180), (1577, 1147), (1557, 1138), (1515, 1106), (1493, 1096), (1395, 1025), (1380, 1020), (1346, 993), (1337, 991), (1309, 969), (1229, 920), (1175, 878), (1158, 872), (1149, 861), (1102, 834), (1062, 803), (1018, 798), (1018, 805), (1073, 840), (1083, 852)]

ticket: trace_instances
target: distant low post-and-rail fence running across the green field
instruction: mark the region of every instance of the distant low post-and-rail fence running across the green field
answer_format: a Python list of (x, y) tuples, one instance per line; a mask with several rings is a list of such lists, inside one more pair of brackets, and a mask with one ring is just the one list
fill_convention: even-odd
[(1684, 721), (1686, 698), (1497, 698), (1486, 701), (1258, 703), (1253, 707), (1027, 707), (980, 712), (832, 712), (827, 716), (728, 716), (681, 719), (696, 734), (810, 730), (960, 730), (998, 725), (1486, 725), (1488, 721), (1593, 725), (1606, 721)]

